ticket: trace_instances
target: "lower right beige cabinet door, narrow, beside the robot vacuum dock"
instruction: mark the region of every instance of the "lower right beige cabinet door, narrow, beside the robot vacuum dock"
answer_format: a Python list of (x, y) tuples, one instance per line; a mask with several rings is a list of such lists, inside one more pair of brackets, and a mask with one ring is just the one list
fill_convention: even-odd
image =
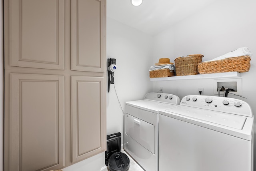
[(71, 76), (72, 163), (106, 150), (104, 78)]

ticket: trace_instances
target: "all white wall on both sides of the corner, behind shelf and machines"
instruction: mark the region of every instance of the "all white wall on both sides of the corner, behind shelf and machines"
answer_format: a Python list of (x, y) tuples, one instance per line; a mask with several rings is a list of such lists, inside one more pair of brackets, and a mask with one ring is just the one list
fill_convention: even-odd
[[(117, 59), (115, 85), (123, 109), (125, 101), (142, 99), (147, 92), (157, 92), (159, 87), (164, 87), (165, 93), (173, 93), (180, 98), (198, 94), (199, 87), (204, 88), (204, 95), (214, 95), (212, 79), (149, 82), (148, 69), (159, 58), (170, 58), (174, 62), (179, 56), (204, 54), (203, 61), (206, 61), (247, 46), (253, 53), (250, 71), (241, 73), (242, 95), (247, 99), (232, 95), (229, 97), (248, 102), (256, 113), (255, 6), (254, 0), (216, 1), (153, 38), (107, 18), (107, 58)], [(144, 47), (137, 47), (143, 44)], [(122, 111), (114, 86), (110, 86), (110, 93), (107, 93), (107, 134), (118, 131), (123, 134)]]

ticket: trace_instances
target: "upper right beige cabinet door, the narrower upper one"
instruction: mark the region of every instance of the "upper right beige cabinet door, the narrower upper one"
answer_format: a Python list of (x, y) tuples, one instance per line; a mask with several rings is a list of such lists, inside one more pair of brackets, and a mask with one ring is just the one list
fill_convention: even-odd
[(105, 0), (71, 0), (71, 70), (104, 72)]

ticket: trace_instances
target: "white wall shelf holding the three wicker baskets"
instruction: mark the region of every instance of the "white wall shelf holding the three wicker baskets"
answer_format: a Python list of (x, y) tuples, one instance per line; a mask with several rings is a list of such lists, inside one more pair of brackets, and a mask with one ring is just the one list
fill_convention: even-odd
[(214, 74), (198, 74), (192, 76), (174, 76), (174, 77), (163, 77), (163, 78), (150, 78), (150, 81), (172, 81), (172, 80), (196, 80), (196, 79), (216, 79), (216, 78), (240, 78), (241, 73), (239, 72), (224, 72)]

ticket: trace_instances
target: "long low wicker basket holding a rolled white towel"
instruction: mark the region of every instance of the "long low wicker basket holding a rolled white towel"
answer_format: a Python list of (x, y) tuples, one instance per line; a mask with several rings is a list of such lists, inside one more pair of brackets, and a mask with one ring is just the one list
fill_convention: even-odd
[(250, 70), (250, 56), (238, 56), (224, 60), (202, 62), (198, 64), (200, 74), (220, 72), (248, 72)]

